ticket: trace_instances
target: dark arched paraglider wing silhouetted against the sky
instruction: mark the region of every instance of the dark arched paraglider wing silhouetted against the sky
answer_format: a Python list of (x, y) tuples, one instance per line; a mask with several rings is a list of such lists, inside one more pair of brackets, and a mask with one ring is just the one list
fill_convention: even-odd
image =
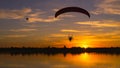
[(58, 17), (59, 15), (63, 14), (63, 13), (67, 13), (67, 12), (80, 12), (80, 13), (83, 13), (83, 14), (87, 15), (90, 18), (89, 12), (87, 10), (83, 9), (83, 8), (80, 8), (80, 7), (62, 8), (55, 13), (55, 18)]

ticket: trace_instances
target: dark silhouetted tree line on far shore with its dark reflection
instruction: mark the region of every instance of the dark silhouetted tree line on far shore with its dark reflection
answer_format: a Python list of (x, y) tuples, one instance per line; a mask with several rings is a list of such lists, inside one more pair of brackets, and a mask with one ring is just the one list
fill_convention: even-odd
[(44, 55), (55, 55), (55, 54), (81, 54), (81, 53), (100, 53), (100, 54), (115, 54), (120, 55), (120, 47), (110, 47), (110, 48), (80, 48), (72, 47), (66, 48), (56, 48), (56, 47), (46, 47), (46, 48), (31, 48), (31, 47), (10, 47), (10, 48), (0, 48), (0, 54), (10, 54), (10, 55), (32, 55), (32, 54), (44, 54)]

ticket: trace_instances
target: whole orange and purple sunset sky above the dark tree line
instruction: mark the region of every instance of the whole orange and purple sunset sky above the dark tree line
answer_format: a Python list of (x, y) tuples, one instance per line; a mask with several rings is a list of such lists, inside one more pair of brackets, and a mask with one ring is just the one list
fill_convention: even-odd
[[(91, 18), (76, 12), (54, 18), (70, 6), (86, 9)], [(120, 47), (120, 0), (0, 0), (0, 47), (64, 45)]]

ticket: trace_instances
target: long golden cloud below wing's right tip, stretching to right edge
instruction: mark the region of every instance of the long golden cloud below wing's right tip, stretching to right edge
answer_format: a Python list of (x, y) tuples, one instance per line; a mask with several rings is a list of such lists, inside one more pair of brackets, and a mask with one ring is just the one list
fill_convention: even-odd
[(93, 27), (120, 27), (120, 23), (113, 20), (75, 22), (75, 24), (90, 25)]

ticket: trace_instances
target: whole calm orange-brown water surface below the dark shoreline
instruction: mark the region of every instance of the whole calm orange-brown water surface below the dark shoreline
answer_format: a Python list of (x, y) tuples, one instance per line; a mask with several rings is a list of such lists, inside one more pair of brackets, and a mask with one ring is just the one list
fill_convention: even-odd
[(0, 55), (0, 68), (120, 68), (120, 55)]

